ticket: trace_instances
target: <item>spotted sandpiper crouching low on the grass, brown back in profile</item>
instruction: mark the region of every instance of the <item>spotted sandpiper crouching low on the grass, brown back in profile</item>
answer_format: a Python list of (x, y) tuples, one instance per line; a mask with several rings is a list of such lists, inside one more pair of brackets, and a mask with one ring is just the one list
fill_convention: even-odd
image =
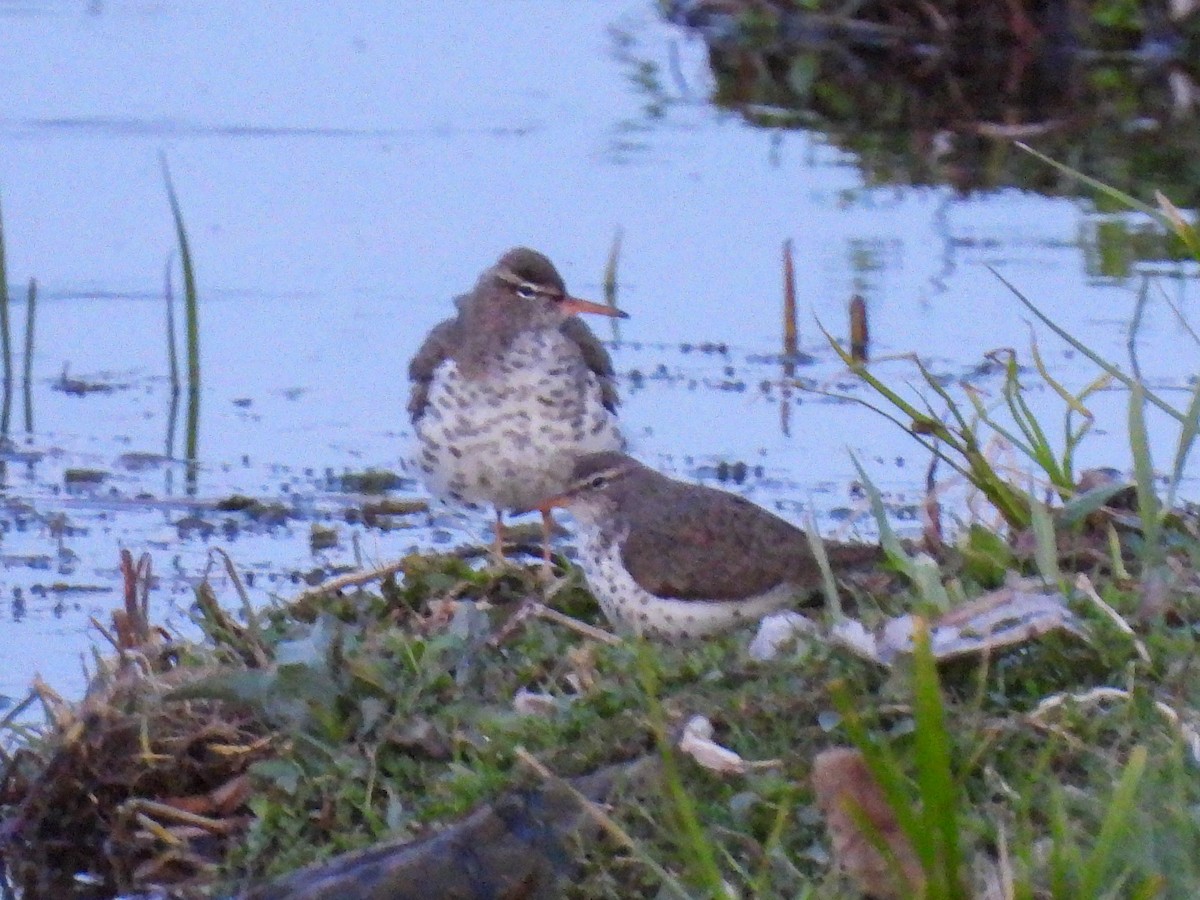
[[(676, 481), (623, 452), (575, 461), (565, 506), (580, 529), (580, 564), (605, 616), (677, 640), (755, 622), (821, 584), (808, 536), (737, 494)], [(882, 559), (869, 544), (826, 542), (830, 566)]]

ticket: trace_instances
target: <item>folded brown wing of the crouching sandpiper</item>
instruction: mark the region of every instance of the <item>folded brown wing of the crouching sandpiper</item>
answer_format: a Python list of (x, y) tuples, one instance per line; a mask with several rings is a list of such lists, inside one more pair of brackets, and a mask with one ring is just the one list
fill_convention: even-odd
[(818, 577), (804, 533), (778, 516), (722, 491), (671, 493), (646, 499), (622, 552), (652, 594), (738, 600)]

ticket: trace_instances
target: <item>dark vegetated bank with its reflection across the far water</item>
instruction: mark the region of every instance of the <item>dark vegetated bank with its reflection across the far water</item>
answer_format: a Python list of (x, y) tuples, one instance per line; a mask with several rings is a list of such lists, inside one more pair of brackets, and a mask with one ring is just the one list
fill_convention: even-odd
[[(1055, 19), (1068, 5), (1048, 4), (1040, 19), (995, 5), (940, 28), (934, 5), (898, 22), (908, 13), (893, 4), (859, 5), (854, 19), (782, 13), (756, 29), (728, 14), (737, 4), (668, 7), (708, 44), (712, 102), (756, 126), (824, 133), (869, 182), (1079, 190), (1015, 152), (1020, 138), (1124, 190), (1153, 184), (1200, 202), (1198, 38), (1186, 23), (1105, 29)], [(632, 71), (653, 116), (668, 95), (644, 60)]]

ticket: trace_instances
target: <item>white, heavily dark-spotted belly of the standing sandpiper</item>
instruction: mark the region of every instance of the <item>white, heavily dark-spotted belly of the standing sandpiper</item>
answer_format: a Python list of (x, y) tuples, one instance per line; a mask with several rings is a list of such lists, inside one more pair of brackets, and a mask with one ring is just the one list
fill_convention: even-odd
[(415, 428), (434, 496), (498, 509), (563, 491), (577, 455), (623, 445), (595, 373), (558, 331), (521, 335), (482, 378), (443, 362)]

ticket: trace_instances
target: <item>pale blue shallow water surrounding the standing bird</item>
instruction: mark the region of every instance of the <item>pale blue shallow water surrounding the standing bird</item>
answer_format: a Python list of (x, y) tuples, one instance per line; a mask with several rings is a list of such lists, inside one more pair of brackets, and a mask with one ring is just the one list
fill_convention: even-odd
[[(995, 347), (1025, 355), (1028, 314), (988, 266), (1122, 361), (1139, 276), (1159, 272), (1140, 331), (1145, 374), (1182, 403), (1172, 391), (1195, 368), (1164, 300), (1189, 316), (1194, 270), (1134, 262), (1128, 277), (1102, 274), (1098, 234), (1124, 220), (1016, 190), (868, 186), (820, 134), (752, 128), (704, 102), (704, 46), (652, 2), (25, 0), (0, 2), (0, 22), (14, 322), (24, 280), (41, 288), (34, 430), (20, 431), (18, 396), (0, 510), (0, 695), (20, 695), (35, 672), (80, 690), (88, 619), (107, 619), (119, 599), (121, 547), (152, 554), (156, 617), (186, 628), (215, 546), (264, 598), (358, 559), (484, 535), (486, 517), (446, 511), (391, 532), (348, 524), (358, 500), (337, 482), (401, 468), (408, 358), (450, 298), (515, 244), (544, 250), (574, 292), (599, 296), (620, 227), (619, 304), (632, 318), (612, 353), (635, 451), (714, 482), (720, 463), (745, 463), (730, 487), (796, 520), (812, 509), (827, 530), (862, 506), (848, 451), (901, 523), (928, 461), (870, 412), (820, 395), (791, 398), (785, 433), (769, 386), (785, 238), (802, 347), (816, 358), (799, 374), (817, 386), (856, 390), (815, 324), (844, 332), (854, 293), (868, 300), (876, 355), (919, 350), (952, 376)], [(686, 90), (648, 106), (634, 59), (673, 65)], [(202, 295), (191, 498), (178, 462), (128, 456), (168, 446), (162, 280), (174, 235), (160, 151)], [(1094, 377), (1039, 334), (1057, 377), (1076, 388)], [(64, 367), (114, 390), (56, 390)], [(1128, 468), (1124, 402), (1097, 398), (1082, 464)], [(172, 451), (181, 455), (178, 433)], [(108, 476), (68, 491), (72, 468)], [(266, 526), (212, 511), (232, 493), (282, 500), (293, 517)], [(338, 546), (312, 551), (313, 522), (336, 526)]]

